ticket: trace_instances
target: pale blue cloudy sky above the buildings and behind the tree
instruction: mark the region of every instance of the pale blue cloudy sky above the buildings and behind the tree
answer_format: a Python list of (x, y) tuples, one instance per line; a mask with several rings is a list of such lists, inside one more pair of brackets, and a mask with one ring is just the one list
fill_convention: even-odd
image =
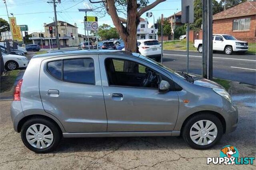
[[(47, 3), (51, 0), (6, 0), (9, 17), (10, 13), (13, 13), (16, 17), (17, 25), (28, 25), (28, 32), (44, 32), (44, 23), (53, 22), (54, 17), (53, 5)], [(57, 0), (56, 0), (57, 1)], [(149, 0), (150, 4), (154, 0)], [(57, 4), (57, 19), (60, 21), (68, 22), (72, 25), (77, 24), (78, 33), (84, 35), (83, 18), (84, 13), (78, 12), (78, 8), (96, 8), (97, 6), (90, 4), (89, 0), (61, 0), (60, 4)], [(174, 12), (181, 10), (181, 0), (166, 0), (152, 8), (150, 12), (153, 13), (156, 19), (164, 14), (164, 17), (171, 16)], [(34, 14), (28, 14), (34, 13)], [(98, 24), (103, 23), (114, 27), (111, 17), (106, 14), (102, 16), (98, 12), (87, 12), (87, 16), (98, 16)], [(120, 14), (121, 17), (125, 16)], [(51, 17), (51, 18), (50, 18)], [(144, 13), (142, 18), (146, 18)], [(0, 1), (0, 18), (8, 20), (6, 7), (4, 2)], [(148, 18), (149, 26), (153, 25), (153, 17)]]

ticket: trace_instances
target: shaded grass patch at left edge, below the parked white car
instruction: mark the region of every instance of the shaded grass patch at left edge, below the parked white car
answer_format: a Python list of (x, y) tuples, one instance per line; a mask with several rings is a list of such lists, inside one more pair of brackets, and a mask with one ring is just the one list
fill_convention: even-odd
[(19, 70), (12, 70), (6, 72), (4, 76), (1, 76), (0, 92), (7, 92), (12, 89), (12, 86), (19, 74)]

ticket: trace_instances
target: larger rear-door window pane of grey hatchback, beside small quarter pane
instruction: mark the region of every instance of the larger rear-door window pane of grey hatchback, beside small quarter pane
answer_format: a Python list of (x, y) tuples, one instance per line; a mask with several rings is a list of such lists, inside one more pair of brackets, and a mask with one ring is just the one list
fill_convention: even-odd
[(95, 84), (93, 59), (64, 60), (63, 80), (74, 83)]

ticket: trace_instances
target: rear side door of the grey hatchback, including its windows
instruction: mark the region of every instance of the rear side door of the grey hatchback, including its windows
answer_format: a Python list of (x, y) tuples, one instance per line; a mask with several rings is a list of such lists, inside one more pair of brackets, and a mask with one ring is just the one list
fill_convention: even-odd
[(39, 88), (45, 111), (57, 117), (67, 132), (106, 132), (98, 55), (42, 61)]

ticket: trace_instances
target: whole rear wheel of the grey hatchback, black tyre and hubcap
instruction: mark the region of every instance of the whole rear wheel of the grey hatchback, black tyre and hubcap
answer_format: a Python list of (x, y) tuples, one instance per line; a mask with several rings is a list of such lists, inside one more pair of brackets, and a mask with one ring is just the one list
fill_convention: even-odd
[(57, 147), (62, 137), (58, 127), (44, 118), (33, 118), (24, 123), (20, 136), (24, 145), (36, 152), (46, 153)]

